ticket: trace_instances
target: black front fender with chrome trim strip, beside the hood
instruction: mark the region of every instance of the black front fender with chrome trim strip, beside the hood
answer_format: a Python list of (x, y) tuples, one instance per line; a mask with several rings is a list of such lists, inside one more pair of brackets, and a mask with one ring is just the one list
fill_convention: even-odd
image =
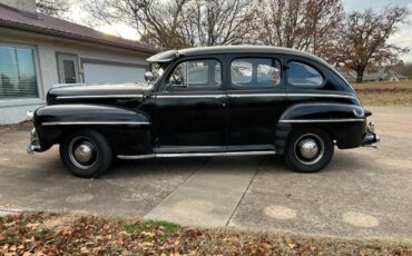
[(78, 129), (95, 129), (109, 140), (117, 155), (151, 152), (151, 120), (143, 111), (98, 105), (55, 105), (35, 111), (41, 151), (60, 144)]

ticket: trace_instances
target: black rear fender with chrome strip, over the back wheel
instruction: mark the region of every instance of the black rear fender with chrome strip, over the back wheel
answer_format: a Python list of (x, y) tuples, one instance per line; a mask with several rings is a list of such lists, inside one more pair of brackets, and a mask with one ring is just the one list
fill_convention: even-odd
[(355, 148), (362, 145), (366, 134), (366, 115), (355, 105), (313, 102), (291, 106), (276, 127), (276, 152), (284, 152), (293, 130), (308, 127), (327, 131), (341, 149)]

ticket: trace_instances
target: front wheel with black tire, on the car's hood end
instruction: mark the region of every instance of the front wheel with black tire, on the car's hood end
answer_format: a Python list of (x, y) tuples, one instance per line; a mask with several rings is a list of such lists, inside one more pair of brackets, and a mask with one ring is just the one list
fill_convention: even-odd
[(79, 130), (62, 141), (60, 158), (73, 175), (82, 178), (97, 178), (110, 167), (112, 151), (109, 142), (100, 132)]

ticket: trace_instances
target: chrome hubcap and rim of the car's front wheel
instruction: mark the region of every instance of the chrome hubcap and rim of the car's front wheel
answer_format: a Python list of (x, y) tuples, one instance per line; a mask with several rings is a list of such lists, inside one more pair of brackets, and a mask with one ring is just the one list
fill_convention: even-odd
[(76, 137), (70, 141), (69, 157), (76, 167), (89, 169), (96, 164), (97, 150), (88, 138)]

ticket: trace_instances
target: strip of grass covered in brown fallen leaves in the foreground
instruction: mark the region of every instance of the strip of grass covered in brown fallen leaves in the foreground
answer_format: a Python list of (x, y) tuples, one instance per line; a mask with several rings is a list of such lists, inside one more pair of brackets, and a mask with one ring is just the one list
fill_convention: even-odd
[(411, 240), (204, 229), (36, 213), (0, 218), (0, 255), (412, 255)]

